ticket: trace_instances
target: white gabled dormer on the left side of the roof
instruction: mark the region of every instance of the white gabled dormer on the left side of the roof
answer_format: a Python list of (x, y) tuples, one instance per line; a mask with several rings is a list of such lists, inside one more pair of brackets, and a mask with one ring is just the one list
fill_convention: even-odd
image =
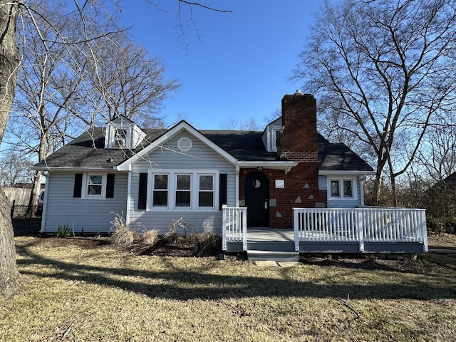
[(145, 133), (123, 115), (111, 120), (106, 125), (105, 148), (125, 148), (133, 150), (138, 146)]

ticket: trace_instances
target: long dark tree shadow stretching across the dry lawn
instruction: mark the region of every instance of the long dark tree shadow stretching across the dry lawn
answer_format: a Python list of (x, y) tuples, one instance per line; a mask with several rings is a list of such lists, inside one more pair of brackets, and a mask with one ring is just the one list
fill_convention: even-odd
[[(211, 300), (251, 296), (344, 298), (350, 294), (352, 299), (456, 299), (455, 281), (452, 280), (455, 279), (455, 276), (452, 271), (448, 272), (447, 270), (434, 276), (404, 274), (401, 282), (374, 284), (368, 279), (369, 274), (368, 271), (366, 273), (366, 269), (364, 269), (363, 274), (360, 274), (360, 269), (347, 267), (343, 269), (346, 270), (344, 274), (338, 273), (334, 278), (328, 276), (331, 274), (330, 272), (324, 272), (324, 277), (321, 279), (297, 281), (287, 277), (288, 274), (296, 271), (294, 269), (281, 269), (284, 275), (283, 279), (249, 275), (227, 276), (199, 272), (204, 271), (204, 269), (199, 269), (199, 271), (180, 269), (168, 261), (169, 259), (163, 258), (162, 260), (167, 267), (166, 271), (139, 271), (128, 268), (68, 263), (33, 254), (27, 246), (17, 246), (16, 248), (19, 254), (27, 257), (27, 259), (18, 260), (18, 265), (43, 264), (56, 269), (53, 274), (43, 274), (40, 271), (33, 270), (23, 270), (21, 271), (22, 274), (52, 276), (56, 279), (112, 286), (152, 298), (177, 300)], [(211, 265), (209, 264), (207, 269), (211, 269)], [(391, 272), (393, 274), (385, 276), (390, 276), (391, 279), (395, 280), (400, 277), (398, 271)], [(123, 279), (113, 279), (113, 277), (122, 277)], [(131, 277), (131, 280), (128, 277)], [(363, 281), (360, 277), (364, 277), (366, 280)], [(164, 284), (147, 284), (147, 280), (141, 281), (140, 279), (162, 279)], [(353, 279), (358, 284), (341, 284), (341, 282), (348, 283), (350, 281), (341, 279)]]

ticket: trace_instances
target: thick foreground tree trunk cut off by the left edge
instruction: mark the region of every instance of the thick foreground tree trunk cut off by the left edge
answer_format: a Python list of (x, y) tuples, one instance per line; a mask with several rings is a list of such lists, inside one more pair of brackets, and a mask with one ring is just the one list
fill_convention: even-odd
[[(8, 122), (16, 88), (19, 53), (16, 47), (16, 18), (19, 2), (0, 0), (0, 144)], [(19, 289), (14, 232), (9, 202), (0, 189), (0, 296), (12, 296)]]

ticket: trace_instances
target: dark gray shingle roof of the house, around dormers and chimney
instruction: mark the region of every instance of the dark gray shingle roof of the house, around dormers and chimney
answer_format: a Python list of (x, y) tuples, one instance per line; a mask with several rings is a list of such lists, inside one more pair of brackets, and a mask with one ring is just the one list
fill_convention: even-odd
[[(100, 168), (112, 169), (135, 152), (142, 150), (150, 142), (167, 132), (165, 129), (145, 129), (146, 138), (135, 150), (105, 149), (104, 128), (94, 128), (83, 133), (75, 140), (53, 152), (46, 160), (38, 162), (36, 167), (65, 168)], [(261, 131), (239, 130), (200, 130), (206, 138), (217, 144), (237, 160), (274, 161), (278, 160), (276, 152), (267, 152), (261, 140)], [(113, 158), (113, 162), (110, 162)], [(319, 170), (372, 171), (361, 157), (341, 143), (328, 142), (318, 133)]]

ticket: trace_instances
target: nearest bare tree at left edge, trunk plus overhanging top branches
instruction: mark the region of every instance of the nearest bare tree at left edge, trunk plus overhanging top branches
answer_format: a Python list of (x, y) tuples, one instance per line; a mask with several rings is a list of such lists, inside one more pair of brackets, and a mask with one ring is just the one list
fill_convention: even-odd
[[(177, 0), (177, 3), (185, 3), (190, 6), (203, 6), (199, 3), (187, 2), (184, 0)], [(33, 3), (35, 4), (35, 3)], [(102, 0), (86, 0), (78, 1), (73, 0), (73, 10), (68, 14), (76, 14), (78, 19), (77, 26), (81, 28), (83, 33), (76, 41), (63, 34), (56, 23), (52, 19), (47, 20), (48, 24), (56, 28), (54, 36), (46, 38), (41, 36), (41, 30), (35, 20), (38, 18), (46, 21), (46, 12), (40, 11), (41, 5), (46, 4), (45, 1), (40, 1), (28, 5), (24, 0), (0, 0), (0, 144), (4, 137), (6, 124), (9, 120), (11, 108), (14, 102), (14, 88), (16, 87), (16, 77), (19, 67), (19, 49), (16, 46), (16, 23), (19, 14), (30, 16), (33, 26), (36, 28), (36, 33), (41, 39), (45, 50), (48, 46), (57, 42), (65, 46), (66, 53), (71, 56), (72, 63), (67, 63), (66, 68), (76, 73), (85, 70), (85, 66), (79, 63), (78, 58), (75, 57), (74, 51), (85, 53), (88, 60), (95, 66), (98, 64), (97, 55), (93, 50), (93, 43), (103, 37), (108, 37), (111, 34), (119, 33), (120, 30), (114, 21), (110, 21), (112, 16), (106, 10)], [(113, 4), (118, 6), (118, 1), (113, 1)], [(210, 9), (210, 8), (209, 8)], [(65, 20), (66, 15), (60, 17)], [(111, 25), (106, 26), (90, 26), (90, 22), (98, 23), (98, 21), (105, 19)], [(58, 21), (57, 21), (58, 22)], [(95, 30), (89, 29), (90, 27)], [(28, 46), (24, 45), (24, 54), (28, 53)], [(78, 55), (76, 53), (76, 56)], [(50, 56), (53, 58), (53, 55)], [(95, 68), (96, 73), (100, 69)], [(68, 127), (66, 123), (63, 127)], [(16, 251), (14, 248), (14, 233), (11, 225), (11, 218), (9, 216), (9, 204), (4, 195), (4, 191), (0, 188), (0, 296), (11, 296), (19, 289), (19, 272), (16, 266)]]

